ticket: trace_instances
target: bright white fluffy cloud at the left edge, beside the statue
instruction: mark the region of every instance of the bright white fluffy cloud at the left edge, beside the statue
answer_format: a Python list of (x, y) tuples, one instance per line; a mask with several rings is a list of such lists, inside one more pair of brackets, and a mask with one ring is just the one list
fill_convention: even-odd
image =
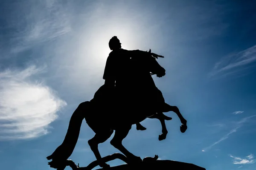
[(46, 85), (32, 82), (42, 69), (0, 73), (0, 140), (31, 139), (48, 133), (47, 127), (67, 105)]

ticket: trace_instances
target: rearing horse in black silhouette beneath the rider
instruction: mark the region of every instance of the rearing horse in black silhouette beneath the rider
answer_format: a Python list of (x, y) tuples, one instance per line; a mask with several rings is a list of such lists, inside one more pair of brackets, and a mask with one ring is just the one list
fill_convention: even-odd
[[(158, 112), (174, 111), (183, 124), (181, 131), (185, 132), (186, 120), (180, 114), (179, 109), (176, 106), (166, 104), (164, 100), (161, 102), (154, 100), (154, 97), (159, 97), (158, 95), (161, 96), (162, 94), (159, 93), (160, 91), (157, 91), (158, 89), (156, 89), (154, 85), (150, 72), (156, 74), (157, 77), (162, 77), (165, 75), (164, 68), (162, 68), (153, 57), (131, 59), (131, 62), (134, 65), (134, 72), (132, 71), (133, 73), (131, 74), (135, 75), (134, 79), (136, 80), (137, 90), (134, 88), (135, 85), (131, 88), (138, 92), (135, 94), (139, 95), (134, 105), (125, 108), (125, 111), (124, 108), (110, 105), (111, 102), (108, 102), (109, 105), (102, 107), (102, 103), (97, 100), (104, 96), (105, 86), (103, 85), (90, 102), (82, 102), (78, 108), (76, 108), (76, 111), (74, 111), (70, 118), (70, 124), (63, 143), (52, 155), (47, 157), (48, 160), (52, 159), (52, 161), (48, 163), (50, 167), (58, 168), (58, 170), (66, 167), (65, 162), (74, 150), (79, 137), (81, 122), (84, 118), (89, 127), (96, 133), (95, 136), (88, 141), (88, 144), (96, 156), (100, 167), (108, 167), (109, 165), (102, 161), (98, 144), (105, 142), (112, 135), (113, 130), (115, 130), (115, 135), (111, 140), (111, 144), (120, 150), (131, 163), (142, 161), (140, 157), (134, 156), (122, 145), (122, 140), (127, 136), (131, 125), (139, 123), (150, 116), (156, 116)], [(149, 92), (152, 92), (152, 94)], [(108, 99), (108, 96), (105, 99)], [(146, 102), (144, 102), (143, 99), (146, 99)], [(140, 100), (142, 101), (141, 103)], [(150, 101), (152, 102), (150, 103)]]

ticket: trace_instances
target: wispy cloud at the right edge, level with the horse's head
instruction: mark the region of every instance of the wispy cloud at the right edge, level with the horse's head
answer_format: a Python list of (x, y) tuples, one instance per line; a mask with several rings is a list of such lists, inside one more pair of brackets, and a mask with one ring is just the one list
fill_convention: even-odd
[(223, 77), (231, 74), (238, 74), (256, 62), (256, 45), (244, 51), (230, 54), (217, 62), (209, 77)]

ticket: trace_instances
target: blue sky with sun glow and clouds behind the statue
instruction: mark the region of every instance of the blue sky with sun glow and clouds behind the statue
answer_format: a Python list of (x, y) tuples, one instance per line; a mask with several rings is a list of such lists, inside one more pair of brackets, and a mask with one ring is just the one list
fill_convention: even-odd
[[(157, 61), (166, 75), (154, 81), (188, 121), (180, 133), (177, 115), (166, 113), (173, 119), (163, 141), (157, 119), (141, 122), (145, 131), (133, 125), (123, 141), (129, 151), (207, 170), (256, 170), (255, 23), (253, 0), (1, 0), (1, 169), (52, 169), (46, 157), (73, 111), (103, 85), (108, 41), (117, 36), (122, 48), (165, 57)], [(93, 136), (84, 121), (69, 159), (94, 161)], [(112, 137), (99, 145), (102, 156), (119, 152)]]

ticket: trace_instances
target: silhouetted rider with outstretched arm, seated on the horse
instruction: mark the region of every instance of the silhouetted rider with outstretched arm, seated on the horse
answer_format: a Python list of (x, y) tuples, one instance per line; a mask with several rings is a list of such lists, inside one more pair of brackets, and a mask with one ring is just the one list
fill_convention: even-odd
[[(116, 103), (116, 107), (127, 107), (134, 97), (132, 68), (130, 65), (132, 57), (163, 57), (154, 53), (140, 50), (125, 50), (121, 48), (119, 39), (114, 36), (109, 41), (109, 48), (112, 50), (105, 65), (103, 79), (108, 98)], [(108, 101), (111, 102), (111, 101)], [(124, 105), (123, 105), (124, 104)], [(138, 130), (145, 130), (145, 127), (137, 124)]]

